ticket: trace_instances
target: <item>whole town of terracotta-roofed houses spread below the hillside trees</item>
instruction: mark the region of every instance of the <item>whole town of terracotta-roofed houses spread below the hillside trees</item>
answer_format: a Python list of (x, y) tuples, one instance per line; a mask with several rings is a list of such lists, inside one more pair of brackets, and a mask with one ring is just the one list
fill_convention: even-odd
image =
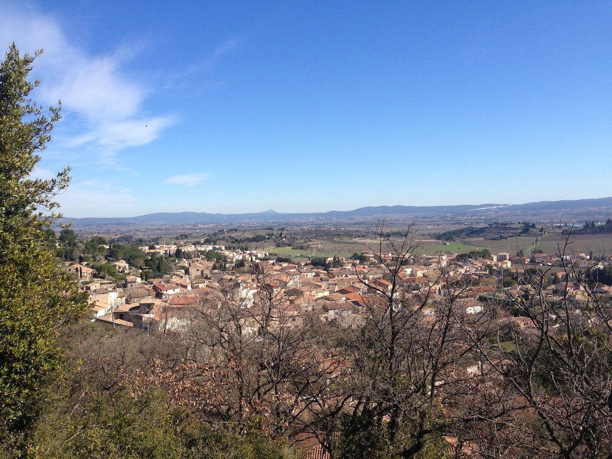
[[(87, 264), (75, 263), (67, 269), (80, 281), (83, 291), (88, 293), (93, 317), (96, 321), (111, 326), (135, 328), (146, 332), (180, 332), (188, 327), (192, 316), (190, 308), (201, 308), (204, 300), (210, 302), (220, 295), (222, 288), (235, 289), (245, 307), (250, 307), (261, 296), (256, 269), (266, 271), (266, 282), (274, 288), (274, 295), (282, 297), (278, 304), (281, 312), (293, 317), (301, 313), (316, 312), (324, 322), (337, 322), (344, 326), (365, 320), (362, 295), (368, 286), (388, 289), (390, 283), (384, 278), (385, 271), (378, 267), (381, 259), (392, 261), (392, 253), (375, 254), (371, 251), (359, 254), (359, 259), (321, 258), (304, 263), (290, 263), (278, 259), (266, 259), (267, 252), (226, 250), (223, 245), (154, 245), (140, 246), (147, 256), (170, 257), (177, 253), (193, 254), (192, 259), (177, 259), (171, 273), (163, 277), (147, 278), (135, 275), (141, 272), (130, 267), (123, 259), (110, 261), (116, 273), (124, 274), (121, 283), (105, 282)], [(222, 260), (209, 261), (200, 253), (214, 252)], [(488, 251), (487, 251), (488, 252)], [(412, 291), (433, 291), (439, 294), (448, 288), (442, 280), (442, 271), (453, 277), (468, 275), (474, 284), (466, 291), (461, 304), (466, 313), (482, 311), (483, 296), (502, 298), (529, 294), (528, 286), (521, 286), (515, 279), (525, 271), (546, 268), (545, 293), (551, 297), (571, 292), (580, 297), (584, 294), (580, 282), (566, 278), (564, 266), (573, 269), (594, 266), (589, 255), (561, 256), (558, 253), (534, 253), (530, 257), (499, 252), (440, 254), (430, 257), (411, 256), (410, 264), (402, 266), (397, 273), (401, 284)], [(209, 255), (210, 258), (210, 255)], [(598, 260), (595, 267), (603, 269), (607, 260)], [(334, 266), (334, 264), (336, 266)], [(339, 266), (341, 265), (341, 266)], [(234, 269), (234, 267), (239, 268)], [(227, 271), (222, 271), (226, 267)], [(255, 268), (257, 267), (257, 268)], [(145, 271), (148, 272), (148, 271)], [(562, 274), (561, 276), (559, 274)], [(556, 281), (556, 282), (555, 282)], [(502, 291), (499, 289), (503, 286)], [(604, 288), (608, 293), (608, 288)], [(602, 291), (603, 293), (603, 291)], [(488, 299), (488, 298), (487, 298)], [(257, 327), (247, 327), (256, 334)]]

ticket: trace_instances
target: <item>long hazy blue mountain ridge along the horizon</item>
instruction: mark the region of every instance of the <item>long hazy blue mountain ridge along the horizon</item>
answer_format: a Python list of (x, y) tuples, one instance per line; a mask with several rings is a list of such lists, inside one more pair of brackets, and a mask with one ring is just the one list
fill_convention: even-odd
[[(553, 214), (566, 212), (581, 218), (584, 212), (599, 211), (612, 212), (612, 197), (586, 200), (540, 201), (526, 204), (463, 204), (458, 206), (368, 206), (353, 211), (329, 211), (315, 213), (279, 213), (272, 210), (250, 214), (209, 214), (207, 212), (158, 212), (155, 214), (139, 215), (138, 217), (89, 217), (64, 218), (78, 226), (94, 225), (190, 225), (190, 224), (230, 224), (240, 222), (279, 222), (300, 220), (332, 220), (345, 218), (367, 218), (384, 215), (488, 215), (494, 217), (512, 217), (513, 215), (534, 214), (537, 212)], [(592, 213), (592, 212), (591, 212)], [(588, 213), (586, 215), (589, 215)], [(608, 216), (612, 216), (608, 215)], [(591, 217), (587, 217), (591, 218)]]

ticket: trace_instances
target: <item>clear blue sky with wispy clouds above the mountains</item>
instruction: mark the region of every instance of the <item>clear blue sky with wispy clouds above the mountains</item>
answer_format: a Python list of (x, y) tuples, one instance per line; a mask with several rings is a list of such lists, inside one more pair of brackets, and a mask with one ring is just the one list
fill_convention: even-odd
[(0, 0), (68, 217), (612, 196), (612, 2)]

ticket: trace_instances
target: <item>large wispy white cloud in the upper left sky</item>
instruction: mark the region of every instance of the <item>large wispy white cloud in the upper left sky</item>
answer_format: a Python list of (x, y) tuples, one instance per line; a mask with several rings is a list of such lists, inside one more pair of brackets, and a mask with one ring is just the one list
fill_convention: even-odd
[(53, 15), (3, 4), (0, 9), (1, 46), (15, 42), (22, 53), (30, 54), (45, 50), (34, 65), (43, 79), (35, 97), (43, 105), (62, 100), (62, 124), (67, 127), (62, 125), (62, 132), (54, 136), (62, 145), (103, 151), (92, 157), (113, 163), (125, 147), (148, 144), (177, 122), (169, 114), (144, 112), (151, 89), (124, 72), (129, 57), (125, 50), (92, 56), (68, 42)]

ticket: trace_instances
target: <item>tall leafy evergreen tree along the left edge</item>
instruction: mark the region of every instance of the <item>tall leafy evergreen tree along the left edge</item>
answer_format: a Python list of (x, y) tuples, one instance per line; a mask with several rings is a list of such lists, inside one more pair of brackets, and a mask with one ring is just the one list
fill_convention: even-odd
[(29, 98), (39, 84), (27, 79), (38, 54), (20, 56), (13, 44), (0, 64), (0, 435), (35, 419), (59, 367), (58, 329), (84, 307), (45, 237), (60, 217), (54, 196), (69, 170), (32, 178), (59, 120), (59, 107), (44, 114)]

